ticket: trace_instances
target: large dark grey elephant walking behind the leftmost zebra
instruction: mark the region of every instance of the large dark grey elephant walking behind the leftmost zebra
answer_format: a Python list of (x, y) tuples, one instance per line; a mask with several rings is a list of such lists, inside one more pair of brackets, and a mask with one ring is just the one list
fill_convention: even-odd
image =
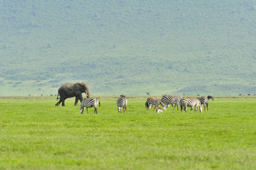
[[(63, 84), (60, 86), (60, 89), (58, 89), (57, 99), (60, 99), (60, 101), (58, 101), (55, 106), (59, 106), (60, 103), (62, 103), (62, 106), (65, 106), (65, 99), (71, 97), (75, 97), (75, 106), (77, 106), (78, 100), (82, 102), (82, 93), (85, 93), (87, 98), (90, 98), (90, 89), (85, 83)], [(60, 98), (58, 98), (59, 96)]]

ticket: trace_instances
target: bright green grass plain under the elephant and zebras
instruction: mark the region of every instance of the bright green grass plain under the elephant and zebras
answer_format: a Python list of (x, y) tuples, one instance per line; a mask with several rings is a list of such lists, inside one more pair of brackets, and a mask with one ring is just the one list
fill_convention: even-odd
[(0, 169), (253, 169), (255, 98), (216, 98), (209, 111), (146, 111), (100, 99), (81, 115), (74, 100), (0, 99)]

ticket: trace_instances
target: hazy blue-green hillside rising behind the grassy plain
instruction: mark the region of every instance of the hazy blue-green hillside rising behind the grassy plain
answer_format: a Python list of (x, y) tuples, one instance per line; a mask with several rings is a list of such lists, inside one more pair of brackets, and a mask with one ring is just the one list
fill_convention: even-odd
[(0, 3), (0, 96), (256, 94), (254, 1)]

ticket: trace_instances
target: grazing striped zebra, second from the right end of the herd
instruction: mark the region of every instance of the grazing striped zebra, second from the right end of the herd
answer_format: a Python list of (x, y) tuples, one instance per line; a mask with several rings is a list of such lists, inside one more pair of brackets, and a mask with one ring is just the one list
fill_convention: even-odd
[(203, 112), (203, 107), (198, 98), (181, 98), (181, 112), (182, 112), (182, 109), (184, 111), (187, 111), (187, 106), (191, 107), (191, 111), (193, 110), (193, 108), (195, 108), (195, 112), (196, 112), (199, 107), (199, 111), (201, 113)]

